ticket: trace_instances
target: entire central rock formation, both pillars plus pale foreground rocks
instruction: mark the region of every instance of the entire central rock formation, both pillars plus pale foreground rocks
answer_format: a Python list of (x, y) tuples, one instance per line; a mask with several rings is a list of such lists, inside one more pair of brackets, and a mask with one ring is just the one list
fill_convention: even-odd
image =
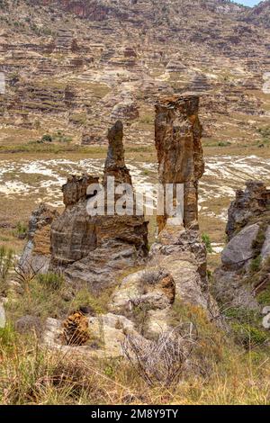
[[(110, 312), (103, 316), (89, 317), (75, 311), (64, 326), (49, 319), (43, 337), (47, 344), (63, 346), (64, 335), (66, 348), (67, 344), (76, 344), (93, 354), (89, 327), (110, 355), (119, 356), (127, 332), (148, 342), (162, 331), (171, 330), (175, 302), (202, 309), (206, 319), (210, 318), (209, 311), (216, 310), (209, 294), (206, 248), (197, 221), (197, 186), (203, 172), (198, 104), (198, 97), (189, 94), (165, 100), (156, 107), (159, 181), (162, 185), (183, 184), (184, 220), (159, 216), (163, 219), (162, 227), (158, 227), (158, 238), (149, 254), (147, 222), (136, 216), (133, 208), (130, 215), (87, 212), (89, 200), (97, 202), (103, 192), (104, 210), (115, 205), (119, 195), (114, 200), (107, 197), (109, 178), (113, 177), (116, 184), (131, 184), (124, 161), (121, 121), (116, 121), (108, 131), (102, 183), (98, 184), (98, 178), (90, 175), (68, 178), (62, 188), (66, 209), (51, 224), (50, 269), (61, 270), (67, 282), (74, 285), (87, 284), (92, 293), (100, 293), (109, 286), (115, 286), (115, 291), (108, 305)], [(94, 184), (91, 191), (87, 189), (89, 184)], [(138, 265), (139, 271), (131, 273)], [(123, 277), (124, 270), (130, 271), (130, 275)], [(74, 336), (78, 341), (73, 343)], [(102, 347), (95, 347), (95, 354), (101, 352)]]

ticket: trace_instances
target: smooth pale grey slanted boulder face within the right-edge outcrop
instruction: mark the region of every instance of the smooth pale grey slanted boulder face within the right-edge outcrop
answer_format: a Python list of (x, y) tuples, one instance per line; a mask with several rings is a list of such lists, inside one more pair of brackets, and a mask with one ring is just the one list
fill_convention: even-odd
[(255, 256), (252, 245), (257, 237), (258, 229), (259, 225), (257, 224), (247, 226), (229, 241), (221, 254), (224, 266), (240, 267)]

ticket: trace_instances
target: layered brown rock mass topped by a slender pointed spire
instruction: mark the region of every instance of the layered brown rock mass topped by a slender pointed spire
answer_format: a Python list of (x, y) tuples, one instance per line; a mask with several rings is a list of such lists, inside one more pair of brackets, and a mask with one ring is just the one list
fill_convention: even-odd
[[(117, 121), (108, 131), (109, 149), (103, 173), (104, 211), (111, 202), (107, 200), (108, 176), (114, 177), (116, 186), (131, 184), (122, 136), (121, 121)], [(63, 186), (66, 210), (51, 227), (51, 266), (62, 267), (68, 280), (87, 283), (94, 291), (110, 285), (116, 273), (125, 267), (135, 266), (147, 255), (148, 245), (147, 222), (143, 217), (88, 214), (89, 199), (97, 199), (97, 183), (98, 178), (90, 175), (69, 178)], [(90, 195), (87, 194), (89, 184), (96, 184), (97, 188)]]

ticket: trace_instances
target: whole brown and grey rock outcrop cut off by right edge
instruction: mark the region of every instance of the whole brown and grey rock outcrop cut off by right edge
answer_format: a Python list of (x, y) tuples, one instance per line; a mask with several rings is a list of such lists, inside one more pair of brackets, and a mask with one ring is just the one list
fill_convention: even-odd
[(270, 190), (263, 182), (248, 181), (246, 190), (236, 193), (226, 231), (229, 243), (214, 274), (216, 297), (259, 310), (261, 294), (270, 287)]

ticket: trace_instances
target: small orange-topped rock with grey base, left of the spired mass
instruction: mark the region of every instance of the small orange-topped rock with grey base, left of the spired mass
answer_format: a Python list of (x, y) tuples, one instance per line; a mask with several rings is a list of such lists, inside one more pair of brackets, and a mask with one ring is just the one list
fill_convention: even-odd
[(40, 203), (37, 210), (31, 214), (29, 220), (28, 242), (20, 258), (20, 266), (46, 273), (50, 261), (50, 226), (58, 218), (58, 211)]

